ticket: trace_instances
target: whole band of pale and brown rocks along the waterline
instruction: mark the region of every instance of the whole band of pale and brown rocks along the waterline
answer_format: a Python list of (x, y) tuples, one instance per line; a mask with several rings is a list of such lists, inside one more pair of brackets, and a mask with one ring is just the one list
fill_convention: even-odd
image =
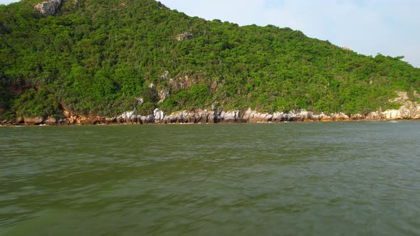
[(406, 92), (399, 92), (399, 97), (391, 102), (399, 102), (399, 109), (388, 109), (384, 112), (368, 114), (331, 113), (315, 114), (300, 112), (256, 112), (251, 109), (224, 111), (223, 109), (181, 111), (165, 115), (159, 108), (153, 114), (136, 115), (135, 111), (124, 112), (118, 117), (83, 116), (69, 111), (63, 112), (63, 119), (53, 117), (21, 117), (16, 121), (3, 121), (0, 125), (93, 125), (93, 124), (214, 124), (214, 123), (280, 123), (280, 122), (338, 122), (338, 121), (386, 121), (397, 119), (420, 119), (420, 104), (408, 100)]

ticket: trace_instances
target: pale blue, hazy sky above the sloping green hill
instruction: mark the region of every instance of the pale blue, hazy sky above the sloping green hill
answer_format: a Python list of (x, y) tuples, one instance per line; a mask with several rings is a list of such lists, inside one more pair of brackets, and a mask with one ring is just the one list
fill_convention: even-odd
[[(14, 1), (0, 0), (0, 4)], [(403, 60), (420, 68), (419, 0), (160, 1), (206, 20), (293, 28), (364, 55), (404, 55)]]

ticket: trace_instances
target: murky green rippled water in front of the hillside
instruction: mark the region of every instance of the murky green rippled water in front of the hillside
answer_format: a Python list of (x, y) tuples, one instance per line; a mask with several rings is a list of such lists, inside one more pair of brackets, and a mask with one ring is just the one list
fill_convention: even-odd
[(0, 127), (0, 235), (420, 235), (420, 122)]

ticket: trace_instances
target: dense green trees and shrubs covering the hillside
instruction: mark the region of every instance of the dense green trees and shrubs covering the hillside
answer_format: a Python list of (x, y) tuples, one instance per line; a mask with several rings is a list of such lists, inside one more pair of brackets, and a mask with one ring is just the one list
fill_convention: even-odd
[(146, 113), (217, 103), (355, 114), (398, 107), (394, 91), (420, 89), (420, 69), (401, 57), (359, 55), (290, 28), (206, 21), (153, 0), (67, 0), (43, 17), (37, 2), (0, 5), (2, 119), (115, 116), (140, 97)]

